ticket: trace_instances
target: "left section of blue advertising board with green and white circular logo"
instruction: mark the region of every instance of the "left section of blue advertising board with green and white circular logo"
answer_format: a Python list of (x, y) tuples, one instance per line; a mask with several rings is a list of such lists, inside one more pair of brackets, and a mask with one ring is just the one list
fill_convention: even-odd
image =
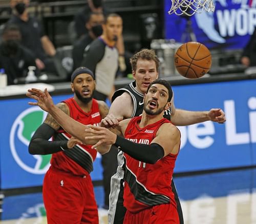
[[(53, 96), (54, 103), (72, 95)], [(1, 100), (0, 166), (1, 189), (42, 185), (50, 166), (51, 155), (31, 155), (29, 141), (47, 113), (38, 106), (30, 106), (31, 99)], [(102, 180), (100, 154), (94, 162), (92, 180)]]

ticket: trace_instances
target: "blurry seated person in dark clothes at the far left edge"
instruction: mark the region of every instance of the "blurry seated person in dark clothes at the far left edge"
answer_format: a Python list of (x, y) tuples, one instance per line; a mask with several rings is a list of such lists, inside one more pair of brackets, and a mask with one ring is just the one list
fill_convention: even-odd
[(0, 44), (0, 68), (5, 69), (8, 85), (18, 83), (19, 78), (27, 76), (29, 66), (36, 66), (33, 52), (23, 47), (21, 40), (22, 35), (16, 25), (5, 26)]

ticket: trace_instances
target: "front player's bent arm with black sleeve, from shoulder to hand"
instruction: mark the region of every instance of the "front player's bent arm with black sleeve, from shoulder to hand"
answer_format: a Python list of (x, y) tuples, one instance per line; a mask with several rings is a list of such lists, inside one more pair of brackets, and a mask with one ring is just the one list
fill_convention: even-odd
[[(124, 133), (128, 124), (128, 122), (125, 122), (126, 120), (120, 122), (122, 133)], [(92, 125), (90, 126), (90, 129), (87, 129), (86, 131), (90, 132), (93, 136), (86, 137), (86, 139), (98, 140), (98, 143), (92, 147), (96, 148), (97, 151), (102, 154), (106, 153), (106, 151), (102, 152), (98, 149), (100, 144), (114, 144), (118, 149), (129, 154), (136, 160), (155, 164), (165, 155), (169, 153), (177, 154), (179, 151), (180, 132), (178, 129), (172, 124), (162, 126), (159, 128), (159, 130), (161, 129), (160, 134), (157, 133), (156, 140), (153, 140), (151, 145), (131, 142), (125, 138), (117, 136), (115, 133), (104, 127), (95, 127)]]

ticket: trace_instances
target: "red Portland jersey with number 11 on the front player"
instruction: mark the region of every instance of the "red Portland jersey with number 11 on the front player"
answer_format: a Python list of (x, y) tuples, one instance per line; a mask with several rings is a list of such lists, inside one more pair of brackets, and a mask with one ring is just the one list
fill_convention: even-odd
[[(154, 124), (139, 127), (140, 117), (133, 118), (126, 127), (124, 137), (135, 143), (151, 144), (159, 127), (170, 123), (163, 118)], [(124, 153), (125, 183), (124, 207), (130, 212), (139, 212), (152, 206), (176, 202), (170, 183), (177, 155), (168, 154), (155, 164), (146, 164)]]

